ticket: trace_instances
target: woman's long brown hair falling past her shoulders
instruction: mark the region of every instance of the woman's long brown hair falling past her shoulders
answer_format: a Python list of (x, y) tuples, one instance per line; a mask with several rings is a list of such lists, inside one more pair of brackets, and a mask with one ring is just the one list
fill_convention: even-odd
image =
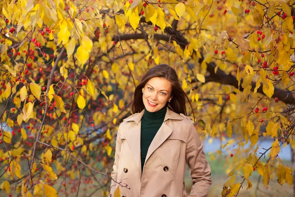
[[(171, 109), (172, 111), (178, 114), (182, 113), (187, 116), (185, 99), (187, 99), (190, 107), (193, 109), (192, 103), (187, 97), (186, 93), (182, 90), (179, 84), (175, 69), (165, 64), (153, 66), (152, 68), (148, 70), (148, 72), (142, 78), (141, 82), (138, 84), (138, 86), (135, 88), (135, 91), (134, 91), (131, 112), (138, 113), (145, 109), (145, 105), (143, 102), (142, 88), (144, 88), (146, 83), (148, 83), (148, 81), (153, 77), (165, 78), (171, 82), (171, 86), (172, 86), (171, 96), (173, 96), (173, 98), (171, 99), (170, 102), (166, 103), (166, 106), (168, 106), (169, 109)], [(195, 118), (194, 113), (193, 115)]]

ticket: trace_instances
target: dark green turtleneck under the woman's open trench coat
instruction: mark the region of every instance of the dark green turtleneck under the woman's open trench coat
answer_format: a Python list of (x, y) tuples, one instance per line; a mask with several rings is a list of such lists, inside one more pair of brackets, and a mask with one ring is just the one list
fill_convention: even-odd
[(145, 107), (144, 115), (141, 119), (141, 136), (140, 136), (140, 150), (141, 150), (141, 164), (142, 171), (148, 153), (148, 147), (164, 122), (167, 108), (166, 106), (156, 112), (149, 112)]

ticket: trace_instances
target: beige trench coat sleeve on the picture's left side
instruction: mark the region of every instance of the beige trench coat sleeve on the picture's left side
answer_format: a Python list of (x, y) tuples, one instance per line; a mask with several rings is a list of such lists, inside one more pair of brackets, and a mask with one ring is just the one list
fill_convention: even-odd
[[(116, 149), (115, 149), (115, 162), (113, 165), (113, 171), (111, 173), (111, 177), (117, 181), (118, 177), (118, 164), (119, 164), (119, 157), (120, 157), (120, 151), (121, 151), (121, 132), (120, 132), (120, 126), (118, 128), (117, 132), (117, 140), (116, 140)], [(109, 197), (114, 197), (114, 192), (116, 189), (117, 183), (115, 183), (113, 180), (111, 181), (111, 187), (110, 187), (110, 195)], [(112, 196), (111, 196), (112, 195)]]

